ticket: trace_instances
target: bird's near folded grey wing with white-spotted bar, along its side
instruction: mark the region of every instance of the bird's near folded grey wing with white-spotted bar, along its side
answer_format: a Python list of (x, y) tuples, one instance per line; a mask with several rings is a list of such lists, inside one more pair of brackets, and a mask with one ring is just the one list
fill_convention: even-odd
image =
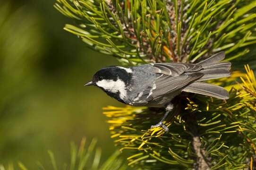
[(161, 75), (156, 78), (151, 87), (146, 88), (140, 95), (129, 104), (135, 106), (143, 106), (148, 102), (161, 97), (164, 94), (172, 93), (182, 88), (185, 88), (190, 83), (195, 82), (204, 76), (203, 73), (189, 73), (181, 76)]

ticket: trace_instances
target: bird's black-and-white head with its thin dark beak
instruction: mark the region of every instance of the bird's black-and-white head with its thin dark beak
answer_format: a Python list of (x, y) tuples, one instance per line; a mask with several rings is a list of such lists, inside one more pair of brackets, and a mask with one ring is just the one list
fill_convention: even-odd
[(123, 100), (131, 82), (132, 70), (111, 66), (102, 68), (94, 74), (93, 80), (85, 85), (95, 85), (117, 100)]

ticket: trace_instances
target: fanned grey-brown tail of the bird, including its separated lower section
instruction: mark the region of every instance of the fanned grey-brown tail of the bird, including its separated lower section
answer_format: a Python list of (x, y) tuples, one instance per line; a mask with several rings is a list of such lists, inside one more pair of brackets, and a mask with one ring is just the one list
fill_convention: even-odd
[(204, 80), (230, 76), (231, 63), (228, 61), (220, 62), (224, 58), (225, 58), (225, 52), (220, 52), (208, 59), (205, 59), (197, 63), (203, 66), (203, 69), (200, 70), (199, 72), (204, 73), (205, 76), (202, 76), (195, 83), (188, 85), (182, 91), (189, 92), (189, 93), (203, 94), (203, 95), (215, 97), (218, 99), (228, 99), (229, 93), (224, 88), (217, 85), (200, 82)]

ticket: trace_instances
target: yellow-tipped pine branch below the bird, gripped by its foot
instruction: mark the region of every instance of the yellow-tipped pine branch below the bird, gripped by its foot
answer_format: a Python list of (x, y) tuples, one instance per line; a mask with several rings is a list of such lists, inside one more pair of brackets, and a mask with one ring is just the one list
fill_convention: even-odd
[[(148, 129), (161, 118), (162, 110), (137, 107), (104, 108), (103, 113), (110, 118), (108, 123), (111, 124), (111, 137), (117, 138), (115, 143), (119, 145), (120, 150), (135, 152), (128, 158), (129, 165), (133, 167), (243, 169), (247, 166), (246, 155), (250, 155), (251, 151), (255, 154), (255, 147), (252, 145), (254, 137), (249, 135), (255, 133), (254, 127), (249, 125), (254, 124), (255, 118), (251, 117), (251, 114), (255, 113), (249, 110), (255, 109), (256, 105), (248, 103), (256, 102), (256, 98), (251, 96), (254, 94), (252, 88), (255, 89), (256, 81), (252, 70), (247, 68), (247, 72), (250, 76), (237, 74), (249, 78), (244, 80), (242, 87), (247, 86), (251, 90), (246, 91), (237, 85), (240, 90), (232, 88), (230, 99), (226, 102), (208, 100), (201, 96), (196, 99), (199, 104), (190, 99), (188, 102), (178, 102), (187, 103), (187, 107), (181, 112), (176, 108), (174, 112), (177, 115), (167, 120), (165, 125), (170, 129), (167, 134), (160, 127)], [(247, 82), (252, 82), (253, 86)], [(251, 123), (245, 119), (248, 117)], [(236, 135), (240, 133), (249, 133), (247, 135), (252, 137), (250, 143), (247, 135)], [(165, 148), (169, 151), (166, 152)], [(150, 163), (152, 159), (158, 162), (155, 166)]]

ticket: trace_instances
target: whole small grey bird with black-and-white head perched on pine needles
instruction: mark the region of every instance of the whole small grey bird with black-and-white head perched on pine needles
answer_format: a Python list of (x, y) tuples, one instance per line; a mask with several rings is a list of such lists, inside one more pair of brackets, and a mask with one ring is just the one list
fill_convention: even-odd
[(162, 127), (168, 132), (163, 122), (174, 108), (172, 100), (180, 93), (229, 99), (223, 87), (203, 82), (230, 76), (231, 63), (222, 61), (224, 58), (222, 51), (198, 63), (150, 63), (130, 68), (109, 66), (97, 71), (85, 86), (97, 86), (112, 98), (131, 106), (164, 108), (164, 116), (151, 128)]

